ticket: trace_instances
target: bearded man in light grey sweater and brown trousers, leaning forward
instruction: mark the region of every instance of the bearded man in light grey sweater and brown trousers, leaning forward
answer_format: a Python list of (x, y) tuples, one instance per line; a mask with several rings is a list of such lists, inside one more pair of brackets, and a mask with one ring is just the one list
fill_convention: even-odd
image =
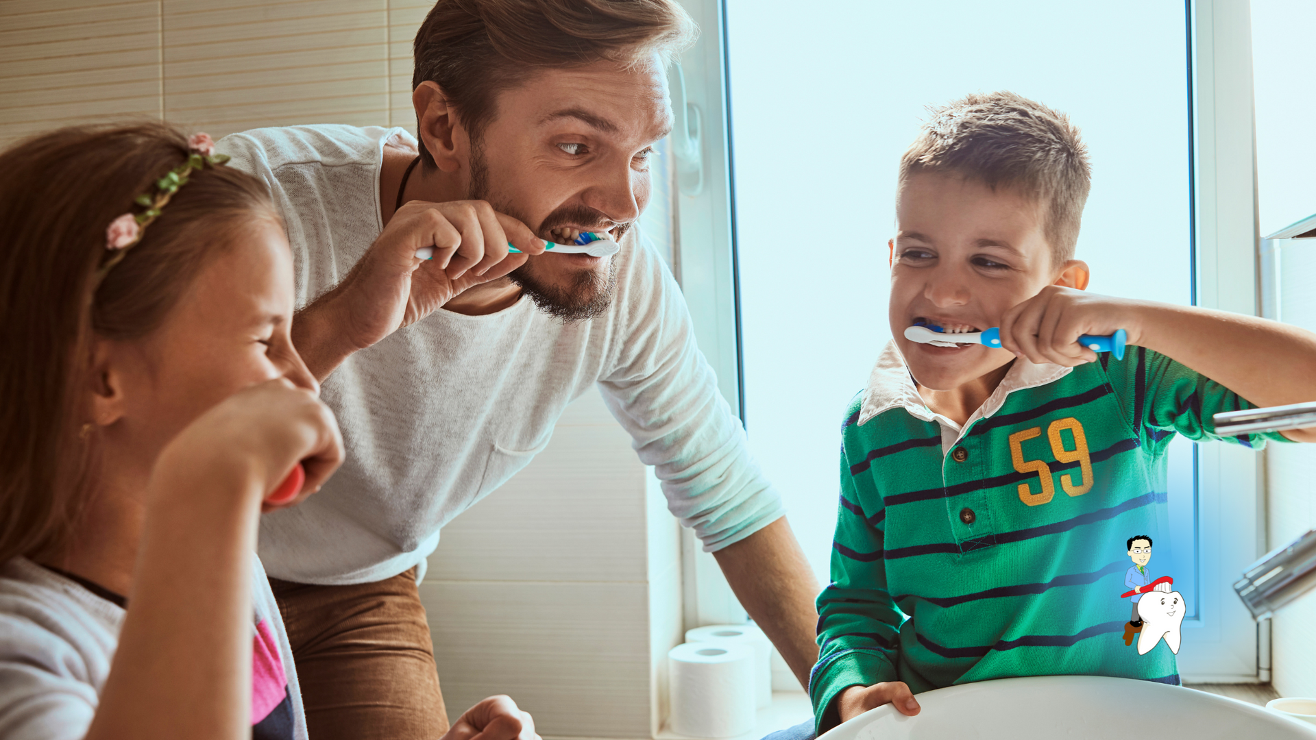
[[(632, 229), (671, 126), (663, 67), (692, 34), (674, 0), (440, 0), (416, 36), (418, 142), (350, 126), (220, 142), (282, 209), (293, 341), (349, 452), (309, 504), (262, 524), (313, 736), (442, 733), (425, 556), (595, 384), (807, 682), (819, 587)], [(544, 253), (580, 232), (621, 253)]]

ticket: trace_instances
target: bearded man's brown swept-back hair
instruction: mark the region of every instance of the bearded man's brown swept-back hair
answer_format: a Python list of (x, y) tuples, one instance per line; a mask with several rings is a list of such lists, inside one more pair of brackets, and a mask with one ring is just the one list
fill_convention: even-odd
[[(666, 65), (696, 34), (675, 0), (438, 0), (416, 32), (412, 90), (437, 83), (479, 138), (499, 93), (538, 71), (655, 55)], [(434, 165), (424, 146), (420, 155)]]

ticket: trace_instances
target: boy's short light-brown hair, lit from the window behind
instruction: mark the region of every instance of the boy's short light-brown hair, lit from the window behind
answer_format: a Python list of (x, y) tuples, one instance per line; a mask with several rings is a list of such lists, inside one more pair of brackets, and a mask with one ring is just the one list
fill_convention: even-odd
[(1005, 91), (966, 95), (929, 112), (900, 158), (900, 187), (913, 172), (933, 171), (992, 190), (1019, 188), (1042, 205), (1054, 265), (1073, 259), (1092, 174), (1069, 116)]

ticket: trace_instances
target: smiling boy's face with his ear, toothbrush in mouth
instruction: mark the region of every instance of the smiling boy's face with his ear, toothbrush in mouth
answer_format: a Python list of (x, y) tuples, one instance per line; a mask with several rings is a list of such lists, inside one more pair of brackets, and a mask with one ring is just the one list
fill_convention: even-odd
[[(915, 172), (896, 203), (891, 241), (891, 333), (915, 381), (949, 391), (1015, 359), (1005, 349), (980, 344), (954, 348), (909, 341), (916, 323), (946, 332), (980, 332), (1001, 315), (1061, 282), (1086, 287), (1087, 266), (1053, 265), (1042, 233), (1041, 205), (1011, 188), (992, 191), (958, 174)], [(1070, 267), (1080, 266), (1082, 270)]]

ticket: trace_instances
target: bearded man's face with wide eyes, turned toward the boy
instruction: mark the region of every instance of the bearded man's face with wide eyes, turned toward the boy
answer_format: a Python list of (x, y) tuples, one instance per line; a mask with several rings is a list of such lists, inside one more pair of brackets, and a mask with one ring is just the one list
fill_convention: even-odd
[[(503, 92), (472, 142), (472, 199), (515, 216), (549, 241), (608, 232), (616, 241), (649, 203), (653, 146), (671, 129), (667, 80), (655, 61), (545, 70)], [(611, 257), (530, 257), (512, 274), (563, 320), (607, 308)]]

